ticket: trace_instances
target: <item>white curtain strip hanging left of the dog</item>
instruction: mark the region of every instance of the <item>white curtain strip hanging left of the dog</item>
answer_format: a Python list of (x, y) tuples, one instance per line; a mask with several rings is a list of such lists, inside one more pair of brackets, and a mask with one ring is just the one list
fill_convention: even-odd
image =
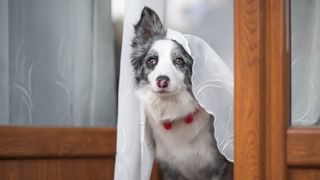
[(151, 151), (145, 152), (143, 151), (144, 148), (141, 148), (145, 145), (141, 144), (145, 138), (145, 124), (143, 123), (145, 121), (143, 108), (139, 106), (139, 101), (134, 93), (133, 72), (130, 64), (130, 43), (134, 33), (133, 25), (138, 22), (143, 7), (149, 6), (154, 9), (163, 20), (164, 5), (162, 0), (126, 2), (118, 91), (115, 180), (148, 180), (150, 177), (153, 155)]

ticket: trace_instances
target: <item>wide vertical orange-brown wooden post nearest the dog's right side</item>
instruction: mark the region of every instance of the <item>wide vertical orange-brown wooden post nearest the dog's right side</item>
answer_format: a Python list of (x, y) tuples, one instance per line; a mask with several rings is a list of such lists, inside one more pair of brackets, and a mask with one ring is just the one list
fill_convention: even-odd
[(235, 0), (236, 180), (264, 178), (264, 24), (262, 0)]

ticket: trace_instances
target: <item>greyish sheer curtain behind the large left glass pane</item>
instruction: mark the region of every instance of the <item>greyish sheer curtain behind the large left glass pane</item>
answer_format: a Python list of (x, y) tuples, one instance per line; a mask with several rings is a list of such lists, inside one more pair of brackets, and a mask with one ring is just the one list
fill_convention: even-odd
[(0, 123), (116, 124), (108, 0), (0, 0)]

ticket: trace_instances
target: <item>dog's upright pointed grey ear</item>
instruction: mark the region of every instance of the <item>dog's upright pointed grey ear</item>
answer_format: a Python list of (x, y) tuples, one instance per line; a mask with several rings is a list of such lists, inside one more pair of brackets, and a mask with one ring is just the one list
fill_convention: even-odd
[(147, 41), (149, 38), (164, 38), (166, 30), (157, 15), (149, 7), (144, 7), (139, 22), (134, 26), (135, 35)]

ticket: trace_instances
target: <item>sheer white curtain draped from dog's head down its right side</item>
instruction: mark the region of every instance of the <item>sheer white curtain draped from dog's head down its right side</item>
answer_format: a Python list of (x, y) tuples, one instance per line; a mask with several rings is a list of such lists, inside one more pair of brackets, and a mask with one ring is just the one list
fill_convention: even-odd
[(182, 44), (193, 57), (192, 92), (199, 104), (214, 116), (218, 149), (233, 161), (233, 73), (204, 40), (171, 29), (167, 38)]

